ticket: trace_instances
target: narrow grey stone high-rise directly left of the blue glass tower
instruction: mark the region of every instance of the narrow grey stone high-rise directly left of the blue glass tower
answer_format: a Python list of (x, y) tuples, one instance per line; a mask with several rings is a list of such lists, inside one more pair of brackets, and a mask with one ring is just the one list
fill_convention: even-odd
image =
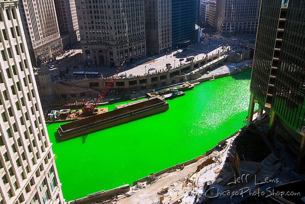
[(147, 52), (160, 54), (171, 48), (170, 0), (144, 0)]

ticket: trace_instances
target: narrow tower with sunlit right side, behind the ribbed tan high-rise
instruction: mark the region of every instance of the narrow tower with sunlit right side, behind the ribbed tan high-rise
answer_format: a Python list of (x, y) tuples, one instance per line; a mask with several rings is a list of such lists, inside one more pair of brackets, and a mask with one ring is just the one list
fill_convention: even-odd
[(77, 42), (79, 29), (74, 0), (54, 0), (59, 32), (62, 37), (69, 36), (68, 44), (63, 43), (63, 47), (70, 46)]

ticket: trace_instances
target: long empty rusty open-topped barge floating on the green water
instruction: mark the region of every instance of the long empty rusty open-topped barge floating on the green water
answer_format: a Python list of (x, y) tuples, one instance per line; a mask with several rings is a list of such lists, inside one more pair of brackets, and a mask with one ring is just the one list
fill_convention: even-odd
[(168, 110), (168, 103), (160, 98), (152, 98), (130, 106), (114, 109), (106, 113), (90, 116), (70, 123), (62, 124), (57, 128), (60, 139), (67, 140), (81, 134), (98, 131), (120, 123), (135, 120)]

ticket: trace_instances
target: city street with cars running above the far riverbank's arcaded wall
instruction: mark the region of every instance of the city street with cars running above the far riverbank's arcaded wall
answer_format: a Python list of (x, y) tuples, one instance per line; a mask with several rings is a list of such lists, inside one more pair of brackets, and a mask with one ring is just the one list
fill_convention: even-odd
[[(128, 76), (137, 76), (137, 75), (144, 75), (145, 73), (152, 73), (156, 71), (162, 71), (166, 70), (166, 64), (170, 63), (170, 66), (175, 67), (179, 66), (180, 64), (190, 63), (186, 61), (187, 56), (195, 56), (195, 60), (202, 59), (208, 55), (212, 55), (217, 53), (218, 51), (224, 51), (227, 46), (231, 47), (232, 49), (238, 48), (241, 44), (247, 45), (249, 39), (255, 38), (253, 35), (239, 35), (239, 36), (233, 36), (230, 38), (220, 37), (218, 35), (212, 37), (205, 37), (203, 41), (201, 41), (200, 44), (197, 45), (190, 45), (186, 48), (181, 49), (175, 49), (174, 52), (171, 53), (162, 53), (160, 55), (155, 55), (154, 57), (150, 56), (146, 59), (141, 59), (138, 61), (135, 61), (132, 66), (128, 66), (127, 64), (124, 64), (122, 67), (120, 73), (126, 74)], [(233, 40), (236, 39), (236, 40)], [(244, 40), (245, 39), (245, 40)], [(249, 43), (249, 47), (254, 47), (254, 43)], [(186, 50), (185, 50), (186, 49)], [(51, 76), (59, 74), (61, 71), (66, 71), (66, 66), (69, 68), (68, 73), (73, 73), (74, 71), (94, 71), (99, 72), (103, 75), (103, 77), (109, 77), (111, 74), (115, 71), (115, 68), (110, 68), (109, 66), (89, 66), (85, 67), (84, 65), (81, 65), (81, 57), (78, 57), (78, 55), (82, 55), (81, 49), (75, 49), (76, 52), (68, 57), (67, 61), (63, 61), (61, 64), (57, 64), (55, 62), (52, 63), (54, 65), (54, 68), (50, 69)], [(70, 50), (66, 54), (71, 53), (73, 50)], [(178, 51), (178, 53), (177, 53)], [(180, 53), (179, 53), (180, 52)], [(174, 54), (177, 54), (174, 56)], [(57, 58), (58, 60), (61, 60), (63, 56)], [(69, 59), (72, 58), (72, 59)], [(183, 59), (182, 61), (179, 61), (180, 59)], [(145, 63), (149, 62), (150, 63)], [(154, 60), (154, 62), (153, 62)], [(73, 66), (77, 66), (76, 69), (73, 68)], [(154, 70), (149, 70), (149, 68), (155, 68)], [(69, 80), (73, 80), (74, 77), (70, 78)], [(55, 79), (55, 77), (53, 77)]]

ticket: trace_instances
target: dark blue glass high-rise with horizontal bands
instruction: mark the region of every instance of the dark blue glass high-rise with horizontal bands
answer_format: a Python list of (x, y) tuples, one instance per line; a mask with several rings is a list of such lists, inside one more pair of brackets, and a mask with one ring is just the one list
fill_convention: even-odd
[(172, 0), (172, 46), (193, 43), (195, 40), (196, 0)]

